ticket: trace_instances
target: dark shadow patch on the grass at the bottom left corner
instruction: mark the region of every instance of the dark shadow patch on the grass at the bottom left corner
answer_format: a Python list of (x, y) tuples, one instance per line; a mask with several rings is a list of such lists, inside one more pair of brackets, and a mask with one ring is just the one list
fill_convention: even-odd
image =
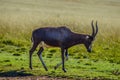
[(1, 72), (0, 71), (0, 77), (24, 77), (24, 76), (33, 76), (33, 74), (26, 73), (26, 71), (17, 71), (17, 70), (12, 70), (12, 71), (7, 71), (7, 72)]

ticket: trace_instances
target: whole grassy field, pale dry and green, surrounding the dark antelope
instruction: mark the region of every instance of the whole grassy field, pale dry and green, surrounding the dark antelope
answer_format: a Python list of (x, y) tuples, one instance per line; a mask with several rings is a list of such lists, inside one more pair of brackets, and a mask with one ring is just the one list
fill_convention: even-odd
[[(29, 69), (32, 30), (67, 26), (91, 34), (91, 21), (99, 32), (89, 54), (83, 45), (69, 49), (67, 73), (54, 66), (61, 61), (59, 48), (45, 48), (45, 71), (35, 51)], [(119, 0), (0, 0), (0, 77), (49, 76), (70, 79), (120, 79)]]

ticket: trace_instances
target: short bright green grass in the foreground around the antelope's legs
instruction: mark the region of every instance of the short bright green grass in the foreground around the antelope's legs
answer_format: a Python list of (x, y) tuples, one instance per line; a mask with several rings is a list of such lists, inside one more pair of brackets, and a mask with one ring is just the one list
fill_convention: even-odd
[[(0, 60), (1, 76), (51, 76), (51, 77), (67, 77), (73, 79), (88, 78), (88, 79), (118, 79), (120, 74), (120, 64), (110, 62), (103, 59), (92, 59), (90, 56), (95, 53), (83, 53), (80, 51), (74, 56), (70, 56), (65, 63), (67, 73), (64, 73), (61, 66), (54, 70), (54, 66), (61, 61), (59, 49), (55, 53), (51, 53), (51, 49), (44, 51), (44, 61), (49, 71), (45, 71), (36, 54), (33, 55), (33, 70), (29, 69), (28, 51), (24, 48), (7, 46), (9, 50), (2, 51)], [(11, 48), (11, 49), (10, 49)], [(5, 49), (5, 48), (4, 48)], [(14, 51), (12, 50), (14, 49)], [(76, 48), (73, 48), (76, 49)], [(24, 51), (23, 51), (24, 50)], [(70, 49), (71, 50), (71, 49)], [(52, 55), (51, 55), (52, 54)], [(78, 58), (80, 55), (80, 58)], [(86, 56), (86, 57), (85, 57)], [(92, 56), (93, 57), (93, 56)], [(13, 74), (14, 73), (14, 74)]]

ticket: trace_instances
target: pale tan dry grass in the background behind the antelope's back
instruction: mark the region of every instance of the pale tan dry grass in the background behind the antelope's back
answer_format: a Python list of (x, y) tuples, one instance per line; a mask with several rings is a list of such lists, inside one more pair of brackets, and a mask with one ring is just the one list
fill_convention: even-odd
[(0, 35), (30, 37), (35, 28), (61, 25), (79, 33), (91, 33), (91, 20), (97, 20), (100, 38), (119, 41), (119, 3), (119, 0), (2, 0)]

